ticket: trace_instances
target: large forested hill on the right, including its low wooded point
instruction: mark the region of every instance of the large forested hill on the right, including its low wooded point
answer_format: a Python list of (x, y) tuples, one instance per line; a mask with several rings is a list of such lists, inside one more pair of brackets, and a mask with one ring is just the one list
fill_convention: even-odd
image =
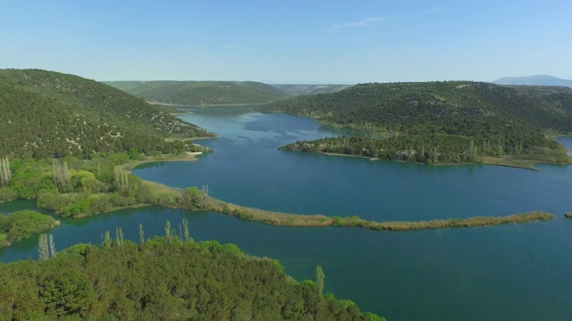
[(450, 81), (363, 84), (261, 107), (357, 128), (367, 139), (299, 142), (287, 150), (390, 160), (477, 162), (488, 156), (566, 162), (548, 133), (572, 132), (572, 89)]

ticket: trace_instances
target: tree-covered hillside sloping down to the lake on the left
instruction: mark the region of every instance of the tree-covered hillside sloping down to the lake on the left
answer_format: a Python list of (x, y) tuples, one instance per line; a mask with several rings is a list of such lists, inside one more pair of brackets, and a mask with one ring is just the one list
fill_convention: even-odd
[(0, 155), (181, 152), (164, 137), (213, 136), (97, 81), (46, 70), (0, 70)]

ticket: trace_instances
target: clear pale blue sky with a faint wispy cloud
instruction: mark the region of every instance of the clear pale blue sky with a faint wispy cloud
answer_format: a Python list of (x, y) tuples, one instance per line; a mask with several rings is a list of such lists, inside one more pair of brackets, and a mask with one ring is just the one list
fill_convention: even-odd
[(0, 68), (96, 80), (572, 78), (572, 0), (0, 0)]

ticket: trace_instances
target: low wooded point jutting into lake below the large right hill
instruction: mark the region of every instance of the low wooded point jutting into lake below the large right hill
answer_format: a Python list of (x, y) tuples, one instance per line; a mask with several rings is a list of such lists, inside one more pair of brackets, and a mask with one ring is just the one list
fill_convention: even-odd
[[(330, 137), (314, 141), (299, 141), (280, 147), (294, 152), (331, 152), (391, 161), (414, 161), (425, 164), (475, 163), (483, 156), (513, 155), (517, 159), (564, 163), (567, 151), (558, 143), (536, 136), (532, 144), (523, 146), (522, 141), (490, 141), (469, 136), (392, 136), (373, 138), (366, 136)], [(523, 138), (526, 139), (526, 138)], [(545, 144), (550, 147), (538, 147)]]

